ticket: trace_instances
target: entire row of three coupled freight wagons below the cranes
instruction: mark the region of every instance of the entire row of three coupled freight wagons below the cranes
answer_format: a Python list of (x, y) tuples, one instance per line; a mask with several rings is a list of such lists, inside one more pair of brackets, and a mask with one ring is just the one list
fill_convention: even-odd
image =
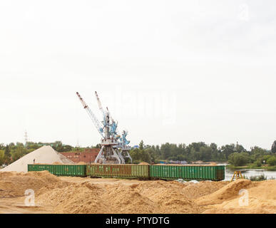
[(224, 180), (225, 166), (198, 165), (28, 165), (28, 171), (48, 170), (57, 176), (119, 177), (164, 180)]

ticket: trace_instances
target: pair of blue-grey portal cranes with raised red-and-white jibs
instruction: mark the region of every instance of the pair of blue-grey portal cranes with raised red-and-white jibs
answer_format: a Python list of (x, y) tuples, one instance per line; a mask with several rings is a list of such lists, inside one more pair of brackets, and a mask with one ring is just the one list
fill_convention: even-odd
[(126, 159), (132, 162), (131, 155), (129, 154), (131, 147), (128, 146), (130, 141), (126, 140), (128, 132), (123, 130), (122, 136), (118, 134), (118, 122), (116, 123), (113, 120), (108, 108), (103, 110), (101, 100), (98, 98), (98, 93), (95, 92), (95, 95), (98, 101), (98, 108), (103, 115), (103, 121), (101, 122), (98, 121), (96, 115), (94, 115), (83, 98), (81, 98), (81, 95), (78, 92), (76, 94), (97, 128), (98, 133), (101, 135), (101, 150), (96, 157), (95, 163), (126, 164)]

